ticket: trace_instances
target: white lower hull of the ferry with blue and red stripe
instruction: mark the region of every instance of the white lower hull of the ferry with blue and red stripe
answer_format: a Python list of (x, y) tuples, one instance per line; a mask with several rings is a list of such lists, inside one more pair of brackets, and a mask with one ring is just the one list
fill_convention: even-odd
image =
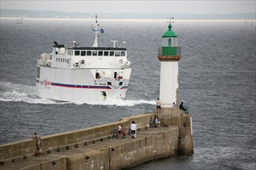
[[(69, 70), (41, 66), (40, 79), (36, 79), (36, 95), (50, 100), (86, 103), (88, 101), (125, 99), (127, 79), (109, 77), (96, 79), (95, 70)], [(103, 72), (103, 70), (102, 70)], [(122, 70), (123, 77), (130, 77), (131, 69)], [(111, 77), (112, 76), (112, 77)], [(122, 84), (122, 85), (120, 85)]]

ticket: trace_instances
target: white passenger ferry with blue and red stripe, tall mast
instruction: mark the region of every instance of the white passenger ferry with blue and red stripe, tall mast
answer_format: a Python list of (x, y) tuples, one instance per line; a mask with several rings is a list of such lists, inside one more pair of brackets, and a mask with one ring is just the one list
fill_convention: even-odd
[(54, 42), (52, 53), (37, 59), (36, 96), (43, 99), (91, 102), (126, 98), (132, 69), (127, 57), (126, 42), (112, 47), (99, 46), (104, 32), (95, 15), (95, 39), (90, 47)]

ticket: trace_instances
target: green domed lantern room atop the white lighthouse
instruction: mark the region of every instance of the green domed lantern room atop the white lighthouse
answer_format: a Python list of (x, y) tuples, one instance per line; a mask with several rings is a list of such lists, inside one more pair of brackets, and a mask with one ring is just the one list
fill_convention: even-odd
[(171, 23), (168, 26), (168, 31), (162, 36), (162, 55), (163, 56), (178, 56), (178, 36), (171, 30)]

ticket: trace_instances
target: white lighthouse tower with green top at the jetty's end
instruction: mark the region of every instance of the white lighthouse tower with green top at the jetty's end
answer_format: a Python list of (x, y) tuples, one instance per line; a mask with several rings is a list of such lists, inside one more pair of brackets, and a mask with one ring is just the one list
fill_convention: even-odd
[(178, 46), (178, 36), (171, 30), (162, 36), (162, 46), (158, 49), (158, 59), (161, 61), (160, 93), (161, 107), (172, 107), (178, 104), (178, 60), (182, 58), (182, 47)]

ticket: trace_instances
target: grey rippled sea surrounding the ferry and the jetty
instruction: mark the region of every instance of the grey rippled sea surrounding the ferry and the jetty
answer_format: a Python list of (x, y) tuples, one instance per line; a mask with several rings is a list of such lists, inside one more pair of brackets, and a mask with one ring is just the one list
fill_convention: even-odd
[[(99, 17), (100, 18), (100, 17)], [(126, 100), (61, 103), (36, 97), (36, 59), (54, 41), (92, 46), (89, 19), (1, 19), (0, 144), (144, 114), (159, 97), (157, 59), (168, 22), (99, 20), (102, 46), (126, 42), (133, 68)], [(182, 46), (178, 100), (192, 114), (194, 155), (132, 169), (256, 169), (256, 27), (244, 21), (175, 21)]]

